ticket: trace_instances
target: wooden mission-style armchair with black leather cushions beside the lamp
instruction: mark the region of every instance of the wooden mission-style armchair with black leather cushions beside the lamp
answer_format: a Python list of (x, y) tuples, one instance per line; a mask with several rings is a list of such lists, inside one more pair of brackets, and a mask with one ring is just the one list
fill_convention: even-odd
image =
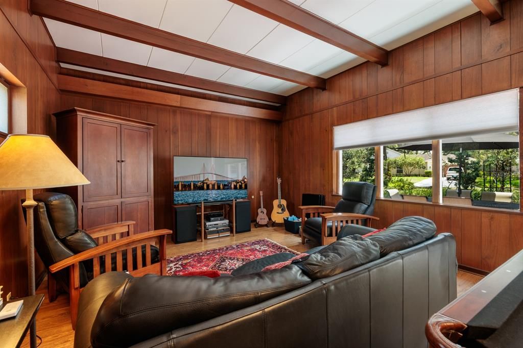
[(62, 193), (35, 195), (35, 245), (48, 269), (49, 301), (56, 299), (57, 283), (69, 290), (71, 323), (76, 327), (78, 299), (87, 282), (110, 271), (134, 276), (167, 274), (165, 254), (168, 229), (133, 233), (133, 221), (87, 230), (78, 229), (73, 199)]

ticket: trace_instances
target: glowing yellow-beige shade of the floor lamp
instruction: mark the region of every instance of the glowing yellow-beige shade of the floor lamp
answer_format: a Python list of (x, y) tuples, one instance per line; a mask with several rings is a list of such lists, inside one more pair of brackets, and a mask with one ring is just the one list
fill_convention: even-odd
[(47, 135), (11, 134), (0, 145), (0, 190), (90, 183)]

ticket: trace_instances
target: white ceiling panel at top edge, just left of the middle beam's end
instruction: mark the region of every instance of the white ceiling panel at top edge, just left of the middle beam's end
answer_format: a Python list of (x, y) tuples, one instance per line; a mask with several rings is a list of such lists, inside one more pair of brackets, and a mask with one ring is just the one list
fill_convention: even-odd
[(168, 0), (160, 29), (206, 42), (232, 6), (226, 0)]

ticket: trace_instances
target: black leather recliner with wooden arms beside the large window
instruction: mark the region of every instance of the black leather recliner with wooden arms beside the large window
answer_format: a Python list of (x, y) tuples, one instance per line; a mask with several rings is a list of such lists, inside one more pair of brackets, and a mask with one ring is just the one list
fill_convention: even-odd
[[(301, 209), (301, 242), (315, 239), (320, 245), (329, 245), (343, 226), (348, 224), (370, 227), (372, 220), (379, 220), (374, 213), (376, 185), (368, 182), (346, 182), (342, 199), (336, 206), (305, 205)], [(309, 216), (309, 218), (306, 218)]]

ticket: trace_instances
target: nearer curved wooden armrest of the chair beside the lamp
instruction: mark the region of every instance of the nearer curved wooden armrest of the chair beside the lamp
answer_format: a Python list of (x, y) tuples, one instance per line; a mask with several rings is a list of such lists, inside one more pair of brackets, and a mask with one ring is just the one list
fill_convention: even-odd
[(118, 248), (121, 246), (125, 246), (132, 242), (140, 241), (140, 240), (144, 240), (144, 239), (150, 239), (150, 238), (163, 236), (163, 235), (169, 235), (171, 233), (173, 233), (173, 231), (171, 231), (169, 229), (157, 229), (154, 231), (149, 231), (149, 232), (132, 235), (130, 237), (124, 237), (121, 239), (113, 240), (111, 242), (91, 248), (91, 249), (83, 251), (81, 253), (77, 253), (62, 261), (56, 262), (55, 264), (53, 264), (49, 267), (49, 271), (51, 271), (51, 273), (55, 273), (55, 272), (65, 269), (75, 263), (85, 261), (85, 260), (90, 260), (94, 257), (104, 255), (107, 252), (111, 252), (112, 249), (115, 249), (115, 248)]

